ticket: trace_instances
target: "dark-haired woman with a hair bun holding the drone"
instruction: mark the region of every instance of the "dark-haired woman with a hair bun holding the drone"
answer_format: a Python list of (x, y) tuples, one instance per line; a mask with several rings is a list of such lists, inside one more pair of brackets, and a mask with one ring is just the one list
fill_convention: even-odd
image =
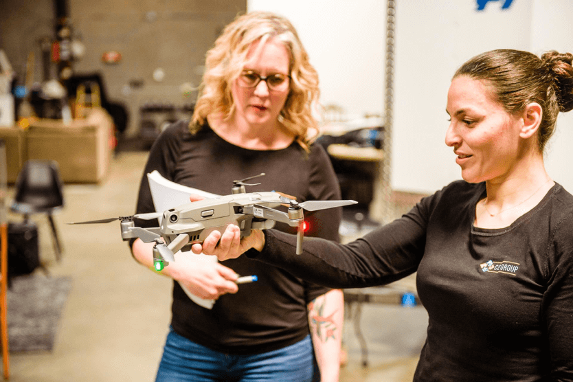
[(347, 245), (311, 238), (301, 256), (293, 236), (267, 230), (241, 241), (229, 226), (203, 251), (247, 251), (337, 288), (417, 271), (429, 326), (414, 381), (573, 381), (573, 196), (543, 164), (558, 113), (573, 108), (572, 60), (498, 49), (464, 63), (449, 87), (445, 136), (463, 180), (396, 221)]

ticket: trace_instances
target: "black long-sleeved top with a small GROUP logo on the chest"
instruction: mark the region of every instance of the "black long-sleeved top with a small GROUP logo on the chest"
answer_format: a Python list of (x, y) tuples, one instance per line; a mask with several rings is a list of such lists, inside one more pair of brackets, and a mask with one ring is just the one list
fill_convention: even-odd
[(559, 184), (509, 227), (474, 227), (484, 183), (451, 183), (346, 246), (267, 231), (256, 257), (330, 287), (417, 273), (429, 314), (414, 381), (573, 381), (573, 196)]

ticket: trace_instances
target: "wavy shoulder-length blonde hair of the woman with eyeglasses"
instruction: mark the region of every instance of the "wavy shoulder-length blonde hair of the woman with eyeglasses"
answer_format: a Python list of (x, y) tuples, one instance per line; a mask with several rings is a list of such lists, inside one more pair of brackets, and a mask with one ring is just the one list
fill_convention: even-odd
[[(205, 74), (195, 104), (190, 131), (196, 133), (207, 115), (232, 117), (232, 84), (243, 71), (251, 44), (276, 38), (287, 48), (291, 76), (289, 95), (278, 117), (305, 150), (318, 133), (313, 108), (318, 106), (318, 74), (290, 21), (271, 12), (249, 12), (229, 23), (207, 52)], [(313, 133), (311, 133), (311, 131)]]

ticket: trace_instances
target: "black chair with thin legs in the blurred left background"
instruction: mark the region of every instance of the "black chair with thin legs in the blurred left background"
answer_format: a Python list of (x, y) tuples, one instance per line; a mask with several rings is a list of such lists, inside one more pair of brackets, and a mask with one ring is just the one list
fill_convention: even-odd
[(14, 186), (16, 196), (10, 210), (23, 214), (27, 222), (31, 214), (47, 214), (52, 227), (56, 260), (60, 260), (62, 246), (52, 214), (64, 206), (62, 180), (58, 163), (51, 160), (28, 160), (20, 170)]

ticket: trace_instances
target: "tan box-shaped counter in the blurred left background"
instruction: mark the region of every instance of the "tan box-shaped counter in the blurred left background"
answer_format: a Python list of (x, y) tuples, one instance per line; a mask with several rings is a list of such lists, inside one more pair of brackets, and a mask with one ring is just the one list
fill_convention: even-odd
[(68, 125), (33, 122), (26, 132), (27, 159), (57, 161), (64, 183), (99, 183), (109, 170), (112, 127), (111, 117), (100, 111)]

